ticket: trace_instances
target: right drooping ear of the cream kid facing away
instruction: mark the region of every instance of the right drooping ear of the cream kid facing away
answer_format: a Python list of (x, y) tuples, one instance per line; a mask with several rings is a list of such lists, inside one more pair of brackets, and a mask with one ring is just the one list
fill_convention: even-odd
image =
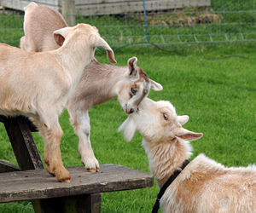
[(101, 47), (106, 49), (108, 61), (112, 64), (116, 64), (116, 60), (114, 60), (113, 49), (110, 48), (108, 43), (102, 37), (93, 34), (90, 36), (90, 42), (94, 47)]

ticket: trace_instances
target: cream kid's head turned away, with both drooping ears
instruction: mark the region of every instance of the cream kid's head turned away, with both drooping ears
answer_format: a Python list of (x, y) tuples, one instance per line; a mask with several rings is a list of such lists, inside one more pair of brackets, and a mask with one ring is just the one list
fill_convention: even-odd
[[(55, 42), (62, 46), (70, 37), (72, 37), (73, 43), (77, 41), (83, 41), (86, 44), (88, 51), (91, 51), (91, 55), (94, 57), (96, 47), (102, 47), (107, 50), (109, 62), (115, 64), (113, 50), (109, 47), (108, 43), (100, 36), (96, 26), (90, 26), (87, 24), (78, 24), (73, 27), (61, 28), (54, 32)], [(81, 47), (83, 48), (83, 47)]]

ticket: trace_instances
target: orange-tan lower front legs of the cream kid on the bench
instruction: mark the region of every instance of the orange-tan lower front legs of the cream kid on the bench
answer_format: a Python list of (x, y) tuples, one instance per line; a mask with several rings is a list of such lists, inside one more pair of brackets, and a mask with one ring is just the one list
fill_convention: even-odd
[(64, 168), (61, 160), (61, 137), (63, 131), (58, 122), (55, 124), (43, 124), (39, 131), (44, 137), (44, 162), (49, 174), (56, 176), (59, 181), (70, 181), (69, 172)]

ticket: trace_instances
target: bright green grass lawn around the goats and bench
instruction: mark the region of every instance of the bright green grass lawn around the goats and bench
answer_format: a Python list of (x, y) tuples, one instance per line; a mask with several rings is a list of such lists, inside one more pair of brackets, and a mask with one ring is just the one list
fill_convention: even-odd
[[(247, 166), (256, 162), (256, 55), (255, 43), (218, 46), (183, 46), (177, 55), (154, 47), (126, 47), (115, 52), (119, 66), (136, 55), (138, 66), (148, 77), (163, 85), (160, 92), (150, 91), (154, 101), (171, 101), (180, 115), (188, 114), (184, 128), (202, 132), (193, 141), (195, 158), (205, 153), (225, 166)], [(169, 50), (171, 50), (169, 48)], [(97, 60), (107, 62), (105, 52), (96, 53)], [(233, 55), (231, 57), (227, 57)], [(240, 56), (240, 57), (236, 57)], [(136, 134), (126, 142), (117, 133), (127, 116), (117, 100), (90, 110), (90, 140), (100, 164), (122, 164), (137, 170), (148, 170), (148, 159)], [(78, 137), (68, 121), (67, 111), (60, 118), (64, 136), (61, 154), (65, 166), (82, 165)], [(42, 158), (44, 142), (33, 133)], [(8, 137), (0, 124), (0, 158), (16, 164)], [(150, 212), (159, 189), (151, 188), (116, 193), (102, 193), (102, 212)], [(32, 204), (19, 202), (0, 204), (0, 212), (33, 212)]]

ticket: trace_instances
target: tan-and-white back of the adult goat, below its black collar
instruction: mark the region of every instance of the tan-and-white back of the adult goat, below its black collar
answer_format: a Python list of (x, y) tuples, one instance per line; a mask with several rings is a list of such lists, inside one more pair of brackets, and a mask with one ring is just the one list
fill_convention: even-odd
[(256, 166), (225, 168), (197, 156), (167, 188), (163, 212), (256, 212)]

